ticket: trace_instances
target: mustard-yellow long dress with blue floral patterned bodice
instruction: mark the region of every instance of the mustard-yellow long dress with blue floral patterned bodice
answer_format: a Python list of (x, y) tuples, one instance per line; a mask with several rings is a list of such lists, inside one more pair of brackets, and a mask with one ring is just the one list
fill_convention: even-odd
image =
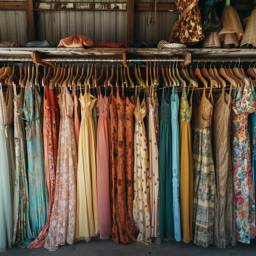
[(193, 239), (193, 155), (190, 125), (192, 96), (193, 91), (188, 101), (184, 87), (180, 97), (180, 224), (184, 243)]

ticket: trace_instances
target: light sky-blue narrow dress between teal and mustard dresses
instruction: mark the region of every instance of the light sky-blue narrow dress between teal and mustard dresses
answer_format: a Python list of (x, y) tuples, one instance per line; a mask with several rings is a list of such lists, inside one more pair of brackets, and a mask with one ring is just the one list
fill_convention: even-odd
[(179, 149), (179, 112), (180, 99), (173, 85), (171, 94), (171, 128), (172, 128), (172, 153), (173, 153), (173, 225), (174, 238), (181, 240), (180, 231), (180, 149)]

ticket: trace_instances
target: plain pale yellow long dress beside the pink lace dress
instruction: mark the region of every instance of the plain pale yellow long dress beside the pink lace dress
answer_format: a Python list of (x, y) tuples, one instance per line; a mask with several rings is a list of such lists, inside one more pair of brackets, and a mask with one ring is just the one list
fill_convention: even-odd
[(97, 200), (96, 138), (92, 109), (97, 99), (87, 92), (80, 94), (81, 126), (78, 146), (75, 242), (90, 241), (99, 235)]

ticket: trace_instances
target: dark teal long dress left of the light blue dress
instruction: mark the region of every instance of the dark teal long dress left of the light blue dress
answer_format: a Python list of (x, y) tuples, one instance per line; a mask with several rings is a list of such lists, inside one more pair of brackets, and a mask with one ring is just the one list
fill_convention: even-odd
[(160, 239), (173, 238), (173, 173), (171, 144), (171, 102), (165, 87), (162, 91), (160, 145), (159, 145), (159, 186), (160, 186)]

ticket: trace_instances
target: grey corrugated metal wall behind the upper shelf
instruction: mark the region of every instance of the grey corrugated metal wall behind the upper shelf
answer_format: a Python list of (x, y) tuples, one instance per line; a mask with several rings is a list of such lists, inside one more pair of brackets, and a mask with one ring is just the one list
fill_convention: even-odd
[[(11, 0), (13, 1), (13, 0)], [(40, 0), (51, 2), (51, 0)], [(126, 0), (61, 0), (61, 2), (126, 2)], [(149, 2), (137, 0), (136, 2)], [(157, 2), (170, 2), (162, 0)], [(158, 43), (168, 40), (177, 13), (157, 12), (157, 27), (146, 25), (146, 12), (135, 12), (135, 43)], [(148, 17), (148, 23), (150, 14)], [(61, 38), (83, 34), (100, 42), (126, 42), (126, 11), (56, 11), (38, 13), (38, 40), (52, 40), (58, 44)], [(23, 45), (27, 42), (25, 11), (0, 11), (0, 41)]]

